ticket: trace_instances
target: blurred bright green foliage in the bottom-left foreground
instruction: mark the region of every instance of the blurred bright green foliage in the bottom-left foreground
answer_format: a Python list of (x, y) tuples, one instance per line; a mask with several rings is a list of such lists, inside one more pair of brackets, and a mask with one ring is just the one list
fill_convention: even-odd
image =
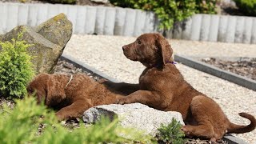
[[(11, 110), (6, 104), (0, 107), (0, 143), (152, 143), (151, 137), (137, 130), (125, 129), (118, 126), (118, 120), (110, 122), (102, 118), (93, 126), (84, 126), (68, 130), (57, 122), (54, 112), (46, 106), (37, 105), (34, 97), (15, 100), (16, 106)], [(42, 128), (42, 125), (44, 128)], [(41, 126), (42, 133), (38, 127)], [(120, 136), (126, 135), (129, 138)]]

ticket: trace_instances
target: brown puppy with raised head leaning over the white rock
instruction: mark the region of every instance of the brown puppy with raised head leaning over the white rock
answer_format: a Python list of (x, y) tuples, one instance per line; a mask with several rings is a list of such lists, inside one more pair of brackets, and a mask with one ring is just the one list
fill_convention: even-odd
[(246, 133), (255, 129), (254, 116), (240, 113), (250, 120), (248, 126), (229, 121), (214, 100), (195, 90), (184, 80), (171, 60), (173, 50), (161, 34), (142, 34), (137, 40), (123, 46), (126, 58), (142, 62), (146, 69), (139, 84), (105, 82), (115, 90), (130, 94), (118, 100), (119, 104), (140, 102), (164, 111), (178, 111), (186, 126), (186, 136), (221, 139), (226, 133)]

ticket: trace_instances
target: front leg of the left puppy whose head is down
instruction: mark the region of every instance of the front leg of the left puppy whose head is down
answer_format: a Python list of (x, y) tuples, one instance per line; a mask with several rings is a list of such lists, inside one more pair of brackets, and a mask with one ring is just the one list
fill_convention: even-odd
[(70, 106), (63, 107), (58, 110), (56, 116), (58, 120), (68, 120), (70, 118), (79, 118), (83, 112), (92, 107), (89, 100), (78, 100), (72, 103)]

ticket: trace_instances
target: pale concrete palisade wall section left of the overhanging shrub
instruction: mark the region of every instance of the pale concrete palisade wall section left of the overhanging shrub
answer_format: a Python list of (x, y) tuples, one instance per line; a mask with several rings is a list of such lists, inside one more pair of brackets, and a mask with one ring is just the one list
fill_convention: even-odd
[(72, 6), (0, 2), (0, 34), (18, 25), (37, 26), (64, 13), (74, 34), (138, 36), (154, 31), (154, 13), (106, 6)]

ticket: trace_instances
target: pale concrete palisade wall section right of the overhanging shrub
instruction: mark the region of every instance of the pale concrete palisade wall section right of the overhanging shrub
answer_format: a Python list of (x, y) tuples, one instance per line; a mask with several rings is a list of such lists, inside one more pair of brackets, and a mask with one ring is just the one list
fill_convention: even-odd
[(168, 38), (256, 44), (256, 18), (195, 14), (174, 26)]

